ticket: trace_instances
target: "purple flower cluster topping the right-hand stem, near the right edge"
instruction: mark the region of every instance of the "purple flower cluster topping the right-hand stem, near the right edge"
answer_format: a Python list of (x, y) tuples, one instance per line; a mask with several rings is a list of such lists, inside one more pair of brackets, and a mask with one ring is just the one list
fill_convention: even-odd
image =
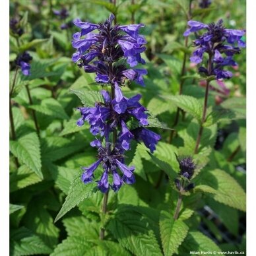
[[(201, 63), (204, 53), (208, 54), (208, 63), (206, 67), (199, 67), (199, 72), (206, 76), (214, 76), (216, 79), (230, 79), (232, 73), (224, 70), (226, 66), (236, 66), (233, 56), (240, 53), (240, 48), (245, 47), (245, 42), (241, 39), (245, 30), (232, 30), (224, 28), (223, 21), (219, 20), (216, 24), (204, 24), (198, 21), (189, 20), (187, 23), (190, 28), (184, 33), (189, 36), (195, 33), (196, 39), (193, 44), (197, 49), (193, 52), (190, 60), (193, 63)], [(199, 30), (207, 30), (199, 36)]]

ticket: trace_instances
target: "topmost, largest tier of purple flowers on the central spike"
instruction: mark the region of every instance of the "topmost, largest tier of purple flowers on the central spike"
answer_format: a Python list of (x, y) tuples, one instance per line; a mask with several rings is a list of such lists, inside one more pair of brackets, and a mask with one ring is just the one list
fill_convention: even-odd
[[(115, 90), (119, 90), (117, 87), (127, 79), (144, 86), (146, 69), (133, 69), (139, 63), (145, 63), (141, 53), (146, 49), (146, 40), (139, 34), (143, 24), (112, 25), (114, 18), (110, 15), (103, 24), (75, 20), (74, 24), (81, 31), (73, 35), (72, 45), (77, 52), (72, 59), (79, 67), (84, 67), (85, 72), (96, 73), (96, 82), (115, 86)], [(98, 33), (92, 33), (94, 30)], [(125, 65), (126, 62), (130, 67)]]

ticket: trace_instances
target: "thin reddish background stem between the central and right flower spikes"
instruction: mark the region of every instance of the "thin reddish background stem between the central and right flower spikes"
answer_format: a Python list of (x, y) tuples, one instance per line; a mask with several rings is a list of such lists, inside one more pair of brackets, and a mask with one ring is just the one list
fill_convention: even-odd
[[(189, 1), (189, 12), (187, 13), (187, 20), (191, 19), (191, 3), (192, 3), (192, 1), (193, 0)], [(189, 42), (189, 38), (186, 36), (185, 37), (185, 44), (184, 44), (185, 48), (187, 48), (188, 42)], [(182, 79), (182, 77), (185, 75), (186, 61), (187, 61), (187, 53), (184, 52), (183, 63), (182, 63), (182, 67), (181, 67), (181, 75), (180, 75), (181, 82), (179, 84), (179, 95), (182, 94), (182, 88), (183, 88), (183, 84), (185, 82), (185, 79)], [(181, 109), (177, 108), (176, 116), (175, 116), (174, 123), (173, 123), (172, 127), (176, 127), (176, 125), (177, 125), (177, 123), (179, 121), (179, 112), (180, 111), (181, 111)], [(174, 134), (175, 134), (175, 130), (172, 130), (171, 133), (170, 133), (169, 139), (168, 139), (169, 143), (172, 143), (172, 139), (174, 138)]]

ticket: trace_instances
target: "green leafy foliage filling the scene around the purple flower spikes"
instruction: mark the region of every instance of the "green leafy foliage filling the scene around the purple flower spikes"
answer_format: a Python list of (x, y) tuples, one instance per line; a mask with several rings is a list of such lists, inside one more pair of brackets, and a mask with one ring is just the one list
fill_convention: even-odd
[[(207, 23), (222, 18), (228, 28), (245, 28), (245, 1), (212, 2), (208, 9), (199, 9), (199, 1), (194, 0), (193, 19)], [(116, 7), (98, 0), (11, 1), (10, 16), (22, 18), (25, 33), (20, 46), (10, 36), (10, 88), (18, 52), (28, 50), (33, 57), (32, 75), (24, 77), (18, 71), (11, 95), (16, 133), (10, 141), (11, 255), (245, 251), (245, 49), (236, 56), (239, 67), (232, 70), (234, 78), (225, 82), (230, 94), (210, 91), (199, 153), (193, 156), (198, 166), (193, 177), (196, 187), (185, 195), (179, 218), (173, 218), (178, 197), (176, 154), (193, 155), (205, 93), (189, 60), (185, 76), (180, 75), (183, 55), (192, 51), (191, 39), (185, 48), (183, 38), (188, 6), (188, 0), (135, 0), (133, 5), (121, 0)], [(146, 25), (141, 30), (148, 41), (146, 87), (131, 83), (123, 91), (127, 96), (143, 94), (141, 103), (158, 118), (152, 118), (151, 126), (162, 140), (153, 155), (143, 144), (133, 144), (126, 162), (136, 166), (137, 182), (123, 185), (118, 193), (110, 191), (106, 215), (102, 193), (94, 190), (94, 183), (80, 181), (80, 167), (94, 162), (96, 152), (90, 147), (94, 138), (88, 125), (76, 126), (75, 111), (82, 104), (100, 101), (99, 86), (93, 74), (71, 61), (71, 38), (77, 28), (59, 28), (61, 21), (52, 10), (61, 7), (70, 11), (67, 21), (79, 17), (102, 22), (112, 12), (120, 24), (131, 23), (134, 15), (136, 23)], [(181, 79), (183, 95), (178, 96)], [(218, 86), (214, 81), (211, 85)], [(171, 131), (163, 128), (172, 128), (177, 107), (185, 115), (169, 143)], [(100, 174), (97, 170), (96, 177)], [(105, 240), (99, 240), (101, 227), (106, 228)]]

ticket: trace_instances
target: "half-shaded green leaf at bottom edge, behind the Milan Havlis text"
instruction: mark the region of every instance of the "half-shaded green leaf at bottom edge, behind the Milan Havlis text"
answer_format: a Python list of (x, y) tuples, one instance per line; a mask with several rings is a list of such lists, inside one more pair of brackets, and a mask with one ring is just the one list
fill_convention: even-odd
[(221, 249), (214, 243), (214, 241), (207, 238), (201, 232), (193, 231), (187, 234), (187, 237), (183, 241), (181, 247), (179, 247), (178, 255), (189, 255), (190, 251), (199, 251), (197, 255), (205, 255), (201, 251), (221, 251)]

